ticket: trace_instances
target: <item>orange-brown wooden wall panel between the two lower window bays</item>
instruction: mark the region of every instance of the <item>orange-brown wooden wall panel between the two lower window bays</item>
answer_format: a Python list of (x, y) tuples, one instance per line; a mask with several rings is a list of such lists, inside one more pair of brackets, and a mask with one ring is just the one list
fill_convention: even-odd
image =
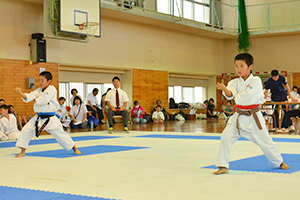
[(147, 113), (152, 112), (156, 100), (168, 110), (169, 73), (166, 71), (132, 70), (132, 105), (139, 101)]

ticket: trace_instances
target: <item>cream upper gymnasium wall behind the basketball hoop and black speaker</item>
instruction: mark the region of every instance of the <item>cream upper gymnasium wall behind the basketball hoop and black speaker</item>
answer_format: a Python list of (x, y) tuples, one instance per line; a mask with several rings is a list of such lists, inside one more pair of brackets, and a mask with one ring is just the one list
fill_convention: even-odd
[[(0, 57), (29, 60), (30, 36), (43, 32), (43, 6), (0, 0), (0, 17), (3, 19), (0, 28), (5, 30), (0, 37), (5, 38), (7, 46), (0, 49)], [(223, 40), (109, 18), (104, 14), (101, 28), (101, 38), (90, 43), (47, 38), (47, 60), (62, 65), (200, 75), (222, 72)]]

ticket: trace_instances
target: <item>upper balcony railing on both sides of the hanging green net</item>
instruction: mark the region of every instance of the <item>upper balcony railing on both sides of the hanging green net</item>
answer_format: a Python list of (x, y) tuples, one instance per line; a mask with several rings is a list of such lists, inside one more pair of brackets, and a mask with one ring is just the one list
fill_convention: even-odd
[[(222, 29), (228, 34), (238, 33), (238, 7), (219, 1), (164, 0), (165, 9), (160, 9), (160, 0), (102, 0), (116, 2), (127, 9), (142, 9), (162, 13), (174, 22), (187, 20), (199, 26)], [(128, 2), (135, 2), (130, 5)], [(248, 27), (250, 32), (300, 28), (300, 0), (276, 3), (247, 5)]]

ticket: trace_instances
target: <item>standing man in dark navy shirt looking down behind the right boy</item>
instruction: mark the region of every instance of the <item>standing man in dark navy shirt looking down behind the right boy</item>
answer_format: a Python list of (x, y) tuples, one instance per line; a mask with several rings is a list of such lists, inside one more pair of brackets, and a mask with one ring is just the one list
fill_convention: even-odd
[[(285, 87), (286, 91), (285, 91)], [(265, 85), (265, 99), (268, 96), (268, 90), (271, 90), (271, 100), (274, 102), (285, 102), (287, 101), (287, 96), (289, 98), (293, 99), (291, 96), (291, 90), (290, 86), (287, 84), (287, 81), (285, 80), (284, 76), (279, 75), (278, 70), (272, 70), (271, 71), (271, 77), (266, 81)], [(274, 116), (273, 116), (273, 128), (275, 128), (275, 131), (282, 132), (281, 130), (277, 130), (279, 128), (279, 122), (278, 122), (278, 105), (275, 107)], [(285, 105), (282, 105), (282, 108), (286, 108)], [(283, 109), (285, 110), (285, 109)], [(275, 119), (274, 119), (275, 117)], [(291, 127), (292, 128), (292, 127)]]

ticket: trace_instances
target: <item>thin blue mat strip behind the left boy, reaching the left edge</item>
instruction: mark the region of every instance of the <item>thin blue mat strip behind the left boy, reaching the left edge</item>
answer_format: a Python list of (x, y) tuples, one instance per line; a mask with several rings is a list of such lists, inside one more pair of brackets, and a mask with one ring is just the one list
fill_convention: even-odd
[[(101, 139), (111, 139), (111, 138), (119, 138), (119, 136), (97, 136), (97, 135), (87, 135), (87, 136), (76, 136), (71, 137), (74, 142), (76, 141), (85, 141), (85, 140), (101, 140)], [(29, 145), (40, 145), (40, 144), (52, 144), (57, 143), (57, 141), (54, 138), (50, 139), (37, 139), (37, 140), (31, 140), (29, 142)], [(16, 141), (13, 142), (1, 142), (0, 148), (8, 148), (8, 147), (15, 147)]]

